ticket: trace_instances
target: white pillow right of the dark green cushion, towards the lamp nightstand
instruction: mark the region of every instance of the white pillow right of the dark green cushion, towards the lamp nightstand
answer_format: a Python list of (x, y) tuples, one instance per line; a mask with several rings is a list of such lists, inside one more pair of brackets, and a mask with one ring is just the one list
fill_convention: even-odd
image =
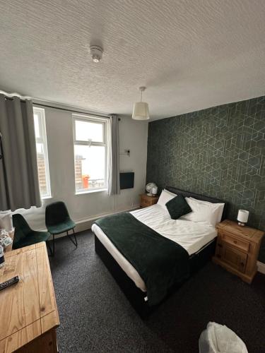
[(216, 227), (216, 220), (219, 212), (218, 208), (213, 208), (211, 205), (196, 202), (190, 198), (185, 198), (185, 200), (189, 207), (192, 208), (192, 212), (180, 217), (180, 220), (189, 220), (201, 225)]

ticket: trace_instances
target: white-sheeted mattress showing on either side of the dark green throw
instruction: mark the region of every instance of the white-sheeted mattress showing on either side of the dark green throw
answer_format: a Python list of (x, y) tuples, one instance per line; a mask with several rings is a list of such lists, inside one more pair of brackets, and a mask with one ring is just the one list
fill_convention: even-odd
[[(156, 204), (148, 208), (141, 208), (140, 210), (132, 211), (131, 214), (134, 215), (137, 220), (155, 230), (155, 232), (163, 235), (163, 237), (181, 245), (189, 253), (189, 256), (200, 251), (200, 249), (204, 248), (206, 244), (217, 236), (214, 227), (200, 225), (189, 220), (172, 220), (167, 209), (163, 208), (161, 205)], [(124, 270), (126, 275), (134, 281), (136, 287), (146, 292), (146, 285), (139, 273), (134, 266), (124, 258), (114, 244), (112, 244), (112, 241), (110, 241), (102, 229), (100, 229), (98, 225), (93, 224), (92, 231), (117, 261), (122, 270)], [(124, 236), (126, 236), (126, 234), (124, 234)]]

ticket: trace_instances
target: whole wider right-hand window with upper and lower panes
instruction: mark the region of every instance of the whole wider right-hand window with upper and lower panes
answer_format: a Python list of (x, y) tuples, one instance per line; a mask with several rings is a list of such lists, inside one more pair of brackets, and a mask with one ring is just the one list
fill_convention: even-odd
[(76, 193), (107, 188), (107, 119), (73, 114)]

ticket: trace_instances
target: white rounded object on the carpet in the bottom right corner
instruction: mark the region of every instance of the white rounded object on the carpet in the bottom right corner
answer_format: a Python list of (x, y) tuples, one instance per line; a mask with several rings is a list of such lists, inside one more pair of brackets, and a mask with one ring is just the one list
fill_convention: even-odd
[(247, 347), (230, 328), (210, 321), (199, 338), (199, 353), (247, 353)]

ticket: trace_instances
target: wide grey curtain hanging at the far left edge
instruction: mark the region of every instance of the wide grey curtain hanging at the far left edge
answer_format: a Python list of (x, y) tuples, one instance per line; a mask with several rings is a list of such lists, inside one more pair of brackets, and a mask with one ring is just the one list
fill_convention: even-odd
[(33, 103), (0, 94), (0, 210), (41, 206)]

